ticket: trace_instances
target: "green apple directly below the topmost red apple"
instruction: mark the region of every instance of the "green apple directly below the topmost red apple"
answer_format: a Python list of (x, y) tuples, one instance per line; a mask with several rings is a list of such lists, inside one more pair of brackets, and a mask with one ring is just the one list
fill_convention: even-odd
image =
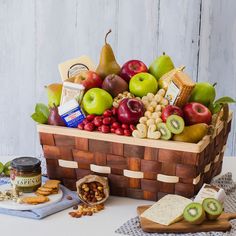
[(129, 91), (137, 97), (143, 97), (148, 93), (155, 94), (158, 89), (156, 78), (146, 72), (134, 75), (129, 82)]

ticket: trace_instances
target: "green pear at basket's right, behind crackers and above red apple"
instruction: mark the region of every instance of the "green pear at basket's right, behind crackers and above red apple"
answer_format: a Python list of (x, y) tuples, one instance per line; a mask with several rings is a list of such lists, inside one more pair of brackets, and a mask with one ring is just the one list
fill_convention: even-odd
[(216, 97), (214, 85), (207, 82), (197, 83), (191, 92), (189, 101), (198, 102), (209, 107)]

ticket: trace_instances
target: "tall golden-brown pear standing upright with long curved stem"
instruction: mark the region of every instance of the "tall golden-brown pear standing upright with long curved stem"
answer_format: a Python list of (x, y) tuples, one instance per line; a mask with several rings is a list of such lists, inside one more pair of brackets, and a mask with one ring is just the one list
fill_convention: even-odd
[(109, 30), (105, 36), (105, 45), (102, 47), (99, 65), (96, 69), (97, 74), (99, 74), (102, 79), (107, 75), (118, 74), (120, 72), (120, 66), (116, 62), (111, 45), (107, 43), (107, 36), (110, 33), (111, 30)]

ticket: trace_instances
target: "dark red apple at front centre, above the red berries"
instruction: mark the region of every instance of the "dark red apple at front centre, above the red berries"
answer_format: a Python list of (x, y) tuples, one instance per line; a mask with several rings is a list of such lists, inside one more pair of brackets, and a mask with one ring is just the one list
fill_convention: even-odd
[(122, 124), (137, 124), (139, 118), (144, 115), (143, 103), (136, 98), (123, 99), (118, 107), (118, 120)]

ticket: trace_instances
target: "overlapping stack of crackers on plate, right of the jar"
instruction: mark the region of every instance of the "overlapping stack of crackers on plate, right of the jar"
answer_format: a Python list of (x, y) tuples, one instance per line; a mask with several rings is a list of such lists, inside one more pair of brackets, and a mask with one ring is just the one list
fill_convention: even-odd
[(59, 191), (59, 184), (59, 180), (47, 180), (44, 185), (37, 189), (36, 194), (40, 196), (49, 196), (51, 194), (57, 194)]

